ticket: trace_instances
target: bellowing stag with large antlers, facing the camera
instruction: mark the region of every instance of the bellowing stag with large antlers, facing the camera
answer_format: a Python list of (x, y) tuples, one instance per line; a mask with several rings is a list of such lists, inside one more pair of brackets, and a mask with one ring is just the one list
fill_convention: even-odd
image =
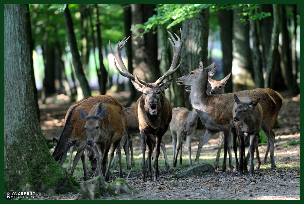
[(150, 136), (156, 137), (156, 142), (155, 142), (156, 160), (155, 160), (155, 168), (154, 168), (154, 180), (158, 179), (159, 177), (158, 157), (160, 153), (159, 147), (161, 144), (161, 139), (164, 133), (167, 131), (172, 117), (172, 108), (169, 103), (169, 100), (164, 96), (163, 93), (161, 93), (163, 90), (167, 89), (170, 86), (172, 79), (164, 83), (162, 83), (162, 81), (164, 81), (164, 79), (167, 78), (169, 75), (176, 72), (177, 69), (180, 67), (181, 63), (179, 63), (178, 66), (176, 65), (178, 63), (178, 58), (181, 53), (181, 47), (183, 45), (182, 32), (181, 32), (181, 38), (179, 38), (178, 35), (175, 34), (178, 40), (175, 40), (175, 38), (172, 36), (170, 32), (168, 33), (170, 34), (173, 40), (172, 42), (172, 40), (169, 38), (170, 43), (173, 47), (173, 60), (170, 69), (167, 72), (165, 72), (164, 75), (161, 76), (159, 79), (157, 79), (154, 83), (146, 83), (143, 80), (139, 79), (136, 75), (134, 76), (133, 74), (131, 74), (126, 69), (126, 66), (124, 65), (123, 60), (121, 58), (120, 51), (129, 38), (127, 39), (125, 38), (122, 42), (119, 42), (115, 51), (112, 50), (112, 46), (109, 41), (110, 51), (112, 55), (114, 55), (120, 68), (122, 69), (122, 71), (118, 69), (114, 59), (114, 65), (116, 70), (122, 76), (131, 79), (131, 82), (133, 83), (135, 88), (143, 93), (139, 97), (135, 105), (135, 115), (139, 122), (141, 149), (143, 153), (142, 177), (146, 178), (146, 173), (147, 173), (147, 167), (145, 163), (145, 154), (146, 154), (147, 146), (148, 146), (148, 160), (149, 160), (148, 167), (149, 167), (149, 172), (152, 174), (151, 172), (152, 144), (150, 141)]

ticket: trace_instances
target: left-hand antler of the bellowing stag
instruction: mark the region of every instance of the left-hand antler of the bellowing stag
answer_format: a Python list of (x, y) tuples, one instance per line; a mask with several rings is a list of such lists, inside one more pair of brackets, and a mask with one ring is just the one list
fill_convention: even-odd
[(115, 69), (116, 69), (116, 71), (119, 72), (119, 74), (121, 74), (122, 76), (125, 76), (125, 77), (127, 77), (127, 78), (129, 78), (129, 79), (132, 79), (132, 80), (138, 82), (138, 83), (141, 83), (141, 84), (143, 84), (143, 85), (145, 85), (145, 86), (148, 86), (148, 85), (149, 85), (148, 83), (144, 82), (143, 80), (140, 80), (136, 75), (134, 76), (133, 74), (131, 74), (131, 73), (127, 70), (125, 64), (123, 63), (123, 59), (121, 58), (120, 51), (123, 49), (123, 46), (126, 44), (126, 42), (127, 42), (127, 40), (128, 40), (129, 38), (130, 38), (130, 36), (129, 36), (127, 39), (124, 38), (123, 41), (121, 41), (121, 42), (119, 41), (117, 47), (115, 48), (115, 52), (112, 50), (112, 45), (111, 45), (111, 42), (110, 42), (110, 40), (109, 40), (110, 51), (111, 51), (112, 55), (116, 58), (116, 60), (117, 60), (117, 62), (118, 62), (118, 64), (119, 64), (119, 66), (121, 67), (121, 69), (123, 70), (123, 72), (120, 71), (120, 70), (118, 69), (118, 67), (117, 67), (117, 65), (116, 65), (116, 61), (115, 61), (115, 59), (114, 59), (114, 66), (115, 66)]

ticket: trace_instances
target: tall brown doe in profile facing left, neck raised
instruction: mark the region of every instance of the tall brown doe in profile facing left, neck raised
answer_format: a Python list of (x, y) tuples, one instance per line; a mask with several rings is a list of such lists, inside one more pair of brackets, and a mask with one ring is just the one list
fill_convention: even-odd
[[(229, 154), (229, 171), (233, 169), (232, 155), (231, 155), (231, 129), (235, 128), (232, 123), (232, 109), (233, 109), (233, 93), (219, 94), (214, 96), (208, 96), (206, 94), (208, 75), (212, 76), (218, 68), (215, 67), (215, 62), (204, 67), (202, 60), (199, 60), (199, 69), (195, 69), (190, 73), (176, 79), (178, 85), (191, 86), (190, 100), (192, 107), (199, 114), (202, 123), (207, 128), (205, 135), (199, 142), (199, 148), (197, 157), (201, 152), (202, 146), (212, 138), (216, 132), (224, 132), (224, 160), (221, 171), (226, 169), (226, 157), (227, 152)], [(235, 94), (238, 96), (248, 96), (251, 98), (260, 98), (260, 105), (263, 109), (263, 120), (261, 122), (261, 128), (267, 135), (271, 146), (271, 169), (274, 170), (275, 158), (274, 158), (274, 138), (271, 133), (275, 118), (276, 103), (274, 99), (262, 90), (244, 90), (238, 91)], [(274, 121), (273, 121), (274, 120)], [(237, 167), (238, 168), (238, 167)]]

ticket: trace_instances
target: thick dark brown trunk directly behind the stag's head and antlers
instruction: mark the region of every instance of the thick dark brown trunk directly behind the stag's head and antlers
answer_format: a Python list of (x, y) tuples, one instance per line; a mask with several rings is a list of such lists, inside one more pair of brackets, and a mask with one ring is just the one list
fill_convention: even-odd
[[(153, 6), (132, 4), (132, 27), (144, 23), (152, 16)], [(132, 65), (133, 74), (147, 83), (155, 82), (159, 77), (159, 65), (157, 62), (157, 35), (152, 31), (142, 37), (136, 35), (142, 33), (142, 29), (132, 30)], [(136, 92), (138, 98), (141, 93)]]

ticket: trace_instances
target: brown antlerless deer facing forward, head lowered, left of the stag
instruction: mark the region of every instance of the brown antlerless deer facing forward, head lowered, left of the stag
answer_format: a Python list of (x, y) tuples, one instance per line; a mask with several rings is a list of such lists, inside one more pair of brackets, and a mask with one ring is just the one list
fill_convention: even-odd
[[(81, 109), (79, 109), (79, 112), (81, 117), (86, 121), (84, 126), (88, 135), (86, 142), (92, 147), (95, 153), (98, 175), (104, 177), (105, 181), (109, 181), (110, 165), (116, 149), (119, 160), (119, 177), (123, 178), (119, 143), (123, 134), (126, 134), (127, 118), (121, 107), (112, 104), (99, 103), (92, 107), (88, 115)], [(109, 164), (107, 170), (105, 170), (111, 146)], [(101, 153), (102, 172), (100, 164)]]

